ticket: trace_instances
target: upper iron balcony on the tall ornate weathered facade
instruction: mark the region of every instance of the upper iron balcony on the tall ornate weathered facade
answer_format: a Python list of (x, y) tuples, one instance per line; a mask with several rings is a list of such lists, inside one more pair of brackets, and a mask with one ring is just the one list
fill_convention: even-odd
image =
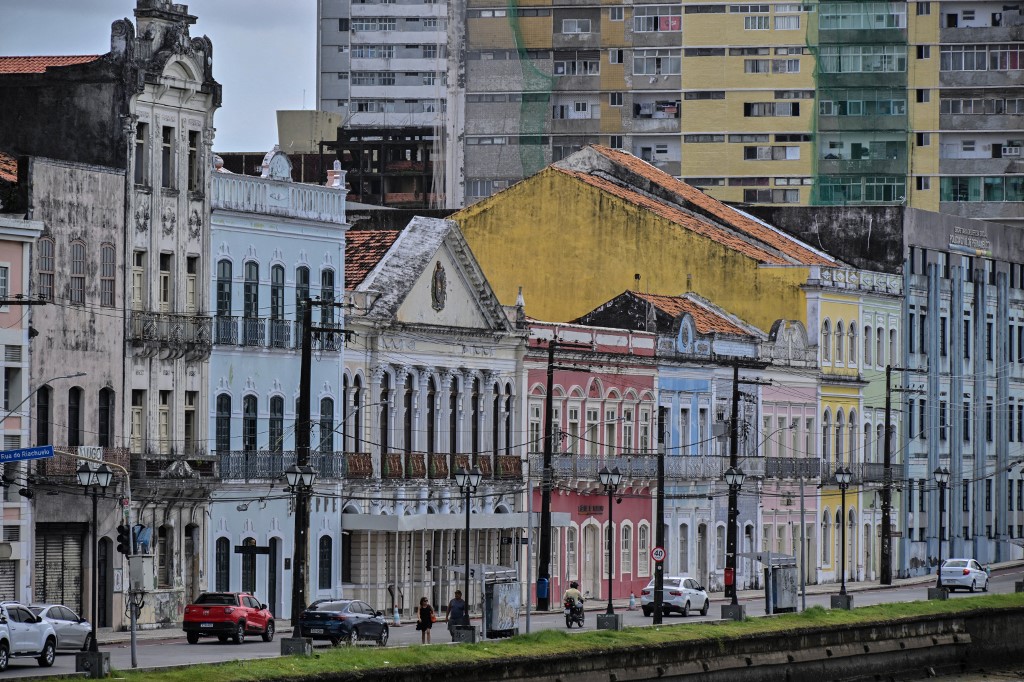
[(128, 342), (146, 355), (203, 358), (210, 354), (213, 321), (205, 315), (132, 310)]

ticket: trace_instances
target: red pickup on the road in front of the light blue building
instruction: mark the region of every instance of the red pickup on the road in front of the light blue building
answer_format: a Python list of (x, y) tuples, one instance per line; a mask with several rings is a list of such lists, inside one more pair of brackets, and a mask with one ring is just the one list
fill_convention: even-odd
[(256, 597), (246, 592), (204, 592), (185, 606), (181, 629), (185, 639), (195, 644), (200, 637), (216, 637), (236, 644), (246, 635), (260, 635), (264, 642), (273, 639), (273, 615)]

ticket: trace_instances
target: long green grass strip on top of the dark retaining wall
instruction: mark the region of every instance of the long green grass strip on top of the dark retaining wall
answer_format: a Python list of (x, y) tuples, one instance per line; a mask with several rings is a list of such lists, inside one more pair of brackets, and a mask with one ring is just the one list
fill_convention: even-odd
[(154, 682), (248, 682), (251, 680), (297, 680), (325, 673), (366, 672), (380, 668), (449, 666), (473, 662), (535, 656), (579, 655), (587, 651), (607, 652), (616, 648), (651, 646), (671, 642), (727, 640), (749, 635), (797, 632), (846, 625), (892, 623), (923, 615), (956, 614), (989, 608), (1024, 606), (1024, 593), (985, 595), (948, 601), (910, 601), (830, 610), (821, 606), (802, 613), (742, 622), (669, 623), (658, 627), (627, 628), (614, 632), (595, 630), (569, 635), (563, 630), (544, 630), (509, 639), (476, 644), (376, 646), (316, 649), (312, 656), (288, 656), (232, 660), (146, 671), (118, 671), (116, 677)]

